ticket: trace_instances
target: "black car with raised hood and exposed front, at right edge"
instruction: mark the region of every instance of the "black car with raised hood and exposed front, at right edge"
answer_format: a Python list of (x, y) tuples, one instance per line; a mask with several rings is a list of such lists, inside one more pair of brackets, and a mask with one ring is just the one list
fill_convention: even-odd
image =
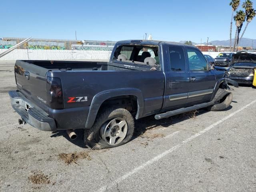
[(256, 68), (256, 54), (233, 54), (232, 64), (228, 69), (230, 78), (239, 84), (252, 84), (254, 69)]

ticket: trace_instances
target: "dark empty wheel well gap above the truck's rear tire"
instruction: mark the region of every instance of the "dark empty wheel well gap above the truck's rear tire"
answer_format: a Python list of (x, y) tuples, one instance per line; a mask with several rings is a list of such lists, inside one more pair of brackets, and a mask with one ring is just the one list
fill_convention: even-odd
[(136, 116), (138, 111), (137, 100), (138, 98), (134, 95), (122, 95), (108, 98), (101, 104), (99, 111), (109, 106), (121, 106), (122, 108), (128, 110), (132, 116)]

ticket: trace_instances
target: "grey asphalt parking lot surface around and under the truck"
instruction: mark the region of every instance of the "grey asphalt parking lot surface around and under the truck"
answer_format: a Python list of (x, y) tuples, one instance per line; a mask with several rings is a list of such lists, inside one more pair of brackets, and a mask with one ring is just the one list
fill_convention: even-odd
[[(128, 144), (88, 150), (81, 130), (71, 141), (64, 131), (18, 125), (8, 97), (16, 89), (14, 62), (0, 62), (0, 80), (0, 191), (256, 191), (256, 89), (250, 86), (232, 87), (226, 111), (149, 116), (135, 122)], [(70, 164), (60, 158), (74, 152), (84, 156)]]

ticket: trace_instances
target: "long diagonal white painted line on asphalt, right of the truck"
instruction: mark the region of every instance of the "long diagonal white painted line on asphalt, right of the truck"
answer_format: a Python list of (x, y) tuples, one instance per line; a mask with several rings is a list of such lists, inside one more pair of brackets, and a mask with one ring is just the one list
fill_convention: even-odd
[(254, 104), (256, 102), (256, 100), (250, 102), (249, 104), (247, 104), (246, 106), (243, 106), (242, 108), (240, 108), (239, 110), (231, 113), (230, 115), (226, 116), (225, 118), (219, 120), (218, 122), (208, 126), (207, 128), (205, 128), (204, 130), (198, 132), (197, 134), (191, 136), (190, 138), (184, 140), (181, 144), (178, 144), (172, 148), (170, 148), (169, 150), (166, 150), (165, 152), (159, 154), (158, 156), (155, 156), (154, 158), (148, 160), (147, 162), (145, 162), (144, 164), (142, 164), (141, 166), (138, 166), (136, 168), (134, 168), (132, 171), (126, 173), (125, 175), (123, 175), (122, 177), (116, 179), (116, 180), (113, 180), (109, 185), (106, 185), (106, 186), (102, 186), (98, 192), (104, 192), (106, 191), (108, 188), (111, 188), (113, 186), (116, 186), (117, 183), (120, 183), (124, 180), (126, 180), (128, 177), (132, 176), (133, 174), (139, 172), (140, 170), (142, 170), (143, 168), (145, 168), (146, 166), (149, 166), (151, 164), (153, 164), (154, 162), (162, 159), (164, 156), (170, 154), (171, 152), (173, 152), (174, 150), (176, 150), (177, 148), (180, 148), (181, 146), (183, 146), (184, 144), (190, 142), (191, 140), (197, 138), (198, 136), (200, 136), (201, 134), (204, 134), (205, 132), (211, 130), (212, 128), (214, 128), (215, 126), (217, 126), (218, 124), (222, 123), (223, 121), (227, 120), (228, 118), (234, 116), (235, 114), (237, 114), (238, 112), (244, 110), (245, 108), (247, 108), (248, 106)]

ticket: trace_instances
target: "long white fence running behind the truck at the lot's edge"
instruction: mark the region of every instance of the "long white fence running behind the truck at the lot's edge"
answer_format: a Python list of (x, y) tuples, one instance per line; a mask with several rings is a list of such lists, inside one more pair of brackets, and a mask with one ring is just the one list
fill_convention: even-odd
[[(6, 49), (0, 49), (0, 53)], [(203, 52), (216, 58), (220, 52)], [(253, 52), (256, 53), (256, 52)], [(30, 50), (16, 49), (0, 58), (0, 61), (13, 60), (108, 60), (111, 51), (94, 50)]]

